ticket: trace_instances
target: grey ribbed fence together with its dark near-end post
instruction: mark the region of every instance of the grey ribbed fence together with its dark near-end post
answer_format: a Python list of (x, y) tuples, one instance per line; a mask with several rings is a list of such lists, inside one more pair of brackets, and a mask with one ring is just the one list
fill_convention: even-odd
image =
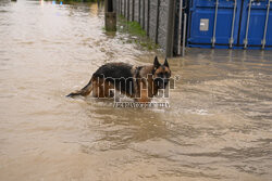
[(116, 12), (136, 21), (166, 56), (174, 53), (175, 3), (171, 0), (116, 0)]

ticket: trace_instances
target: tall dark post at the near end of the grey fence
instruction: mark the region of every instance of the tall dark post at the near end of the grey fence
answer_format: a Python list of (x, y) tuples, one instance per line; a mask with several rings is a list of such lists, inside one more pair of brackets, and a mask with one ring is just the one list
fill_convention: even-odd
[(174, 28), (175, 28), (175, 1), (169, 1), (168, 12), (168, 31), (166, 31), (166, 56), (173, 56), (173, 40), (174, 40)]

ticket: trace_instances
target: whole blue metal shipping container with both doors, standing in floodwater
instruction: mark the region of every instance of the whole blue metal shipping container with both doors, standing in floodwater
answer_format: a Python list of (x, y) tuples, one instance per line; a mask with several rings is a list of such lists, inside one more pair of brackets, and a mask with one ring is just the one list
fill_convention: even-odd
[(272, 0), (191, 0), (188, 47), (272, 48)]

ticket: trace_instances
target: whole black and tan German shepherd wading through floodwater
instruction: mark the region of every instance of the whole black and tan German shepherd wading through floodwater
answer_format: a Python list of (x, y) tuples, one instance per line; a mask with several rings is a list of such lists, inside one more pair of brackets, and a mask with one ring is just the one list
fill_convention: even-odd
[(171, 77), (168, 60), (160, 64), (154, 57), (153, 65), (133, 66), (126, 63), (108, 63), (92, 74), (88, 85), (82, 90), (66, 96), (87, 96), (91, 91), (95, 98), (113, 98), (113, 90), (134, 99), (136, 102), (147, 103), (158, 94), (159, 89), (165, 89)]

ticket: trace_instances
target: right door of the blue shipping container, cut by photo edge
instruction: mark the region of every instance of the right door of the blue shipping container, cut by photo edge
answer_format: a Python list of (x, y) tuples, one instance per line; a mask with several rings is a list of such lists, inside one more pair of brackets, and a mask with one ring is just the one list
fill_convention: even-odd
[(239, 44), (244, 48), (272, 47), (272, 0), (245, 0)]

